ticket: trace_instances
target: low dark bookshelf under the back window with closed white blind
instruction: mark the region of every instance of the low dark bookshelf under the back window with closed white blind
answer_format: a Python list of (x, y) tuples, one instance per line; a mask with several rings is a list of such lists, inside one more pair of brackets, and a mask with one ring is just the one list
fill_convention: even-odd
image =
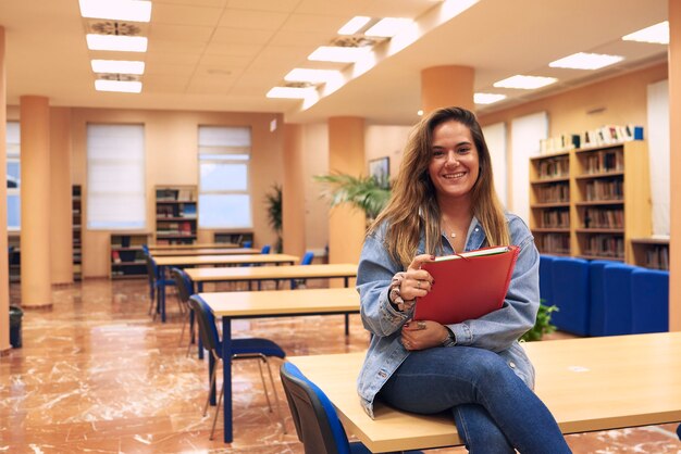
[(141, 245), (148, 242), (147, 234), (111, 235), (111, 278), (146, 278), (147, 262)]

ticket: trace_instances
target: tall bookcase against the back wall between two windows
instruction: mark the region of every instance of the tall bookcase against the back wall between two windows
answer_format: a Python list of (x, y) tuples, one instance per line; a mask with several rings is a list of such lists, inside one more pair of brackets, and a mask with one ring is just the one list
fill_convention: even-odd
[(190, 244), (197, 235), (196, 186), (156, 188), (156, 244)]

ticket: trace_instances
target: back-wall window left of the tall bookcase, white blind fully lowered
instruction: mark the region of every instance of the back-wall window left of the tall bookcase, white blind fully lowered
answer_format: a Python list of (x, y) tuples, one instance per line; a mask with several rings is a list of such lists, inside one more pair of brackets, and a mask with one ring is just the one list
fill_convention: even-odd
[(87, 125), (87, 227), (145, 228), (145, 127)]

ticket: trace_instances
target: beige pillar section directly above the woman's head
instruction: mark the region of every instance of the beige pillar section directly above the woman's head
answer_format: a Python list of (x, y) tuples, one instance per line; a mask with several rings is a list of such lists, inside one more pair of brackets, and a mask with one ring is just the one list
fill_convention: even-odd
[(475, 110), (473, 83), (475, 72), (469, 66), (433, 66), (421, 71), (421, 109), (423, 113), (457, 105)]

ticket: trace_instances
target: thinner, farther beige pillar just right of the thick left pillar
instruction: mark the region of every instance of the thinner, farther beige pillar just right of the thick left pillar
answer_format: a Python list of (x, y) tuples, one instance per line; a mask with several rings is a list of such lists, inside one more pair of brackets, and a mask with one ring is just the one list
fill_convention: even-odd
[(50, 275), (52, 283), (73, 282), (71, 202), (71, 109), (50, 110)]

